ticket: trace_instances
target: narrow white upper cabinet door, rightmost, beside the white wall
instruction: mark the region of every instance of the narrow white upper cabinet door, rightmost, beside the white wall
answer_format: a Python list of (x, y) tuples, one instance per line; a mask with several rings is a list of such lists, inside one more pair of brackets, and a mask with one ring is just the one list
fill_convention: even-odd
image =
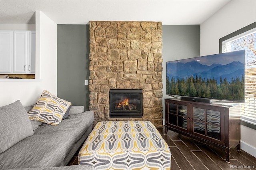
[(29, 73), (36, 72), (36, 32), (29, 33), (29, 57), (28, 57), (28, 71)]

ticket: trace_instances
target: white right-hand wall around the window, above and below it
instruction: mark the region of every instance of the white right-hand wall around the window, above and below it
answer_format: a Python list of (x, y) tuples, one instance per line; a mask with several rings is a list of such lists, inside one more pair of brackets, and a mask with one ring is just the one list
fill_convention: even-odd
[[(232, 0), (202, 23), (200, 55), (219, 53), (220, 38), (256, 22), (255, 9), (255, 0)], [(241, 125), (241, 148), (256, 157), (255, 136), (256, 130)]]

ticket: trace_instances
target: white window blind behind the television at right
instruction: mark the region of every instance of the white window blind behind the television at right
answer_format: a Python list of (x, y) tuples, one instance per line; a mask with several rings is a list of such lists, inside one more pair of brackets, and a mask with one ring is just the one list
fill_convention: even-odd
[(245, 102), (241, 120), (256, 125), (256, 28), (222, 42), (222, 52), (245, 50)]

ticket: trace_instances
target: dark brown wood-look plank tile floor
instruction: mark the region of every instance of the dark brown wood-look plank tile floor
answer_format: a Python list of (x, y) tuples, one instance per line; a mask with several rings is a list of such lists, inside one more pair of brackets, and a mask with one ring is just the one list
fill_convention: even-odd
[[(226, 163), (224, 152), (210, 148), (191, 138), (168, 130), (164, 135), (164, 128), (157, 128), (170, 146), (172, 160), (171, 170), (255, 170), (256, 158), (243, 150), (236, 148), (231, 152), (230, 164)], [(77, 164), (77, 155), (68, 165)], [(253, 167), (253, 168), (250, 168)]]

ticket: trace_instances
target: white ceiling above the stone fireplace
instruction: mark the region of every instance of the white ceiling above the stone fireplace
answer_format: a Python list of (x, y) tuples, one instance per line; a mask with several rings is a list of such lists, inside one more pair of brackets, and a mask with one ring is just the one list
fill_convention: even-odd
[(42, 11), (56, 24), (89, 21), (156, 21), (202, 24), (230, 0), (0, 0), (1, 24), (34, 24)]

